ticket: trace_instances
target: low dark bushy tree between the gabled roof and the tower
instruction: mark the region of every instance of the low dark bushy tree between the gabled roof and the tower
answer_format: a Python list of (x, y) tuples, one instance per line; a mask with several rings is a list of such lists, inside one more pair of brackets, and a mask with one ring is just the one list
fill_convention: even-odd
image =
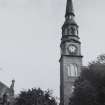
[(16, 98), (15, 105), (56, 105), (56, 100), (51, 96), (51, 91), (32, 88), (28, 91), (21, 91)]

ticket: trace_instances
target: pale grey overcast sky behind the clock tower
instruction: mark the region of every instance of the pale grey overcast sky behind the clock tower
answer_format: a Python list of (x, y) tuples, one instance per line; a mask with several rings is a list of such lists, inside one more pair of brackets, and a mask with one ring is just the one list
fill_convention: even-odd
[[(83, 65), (105, 53), (105, 0), (73, 0)], [(41, 87), (59, 96), (66, 0), (0, 0), (0, 81), (15, 92)]]

